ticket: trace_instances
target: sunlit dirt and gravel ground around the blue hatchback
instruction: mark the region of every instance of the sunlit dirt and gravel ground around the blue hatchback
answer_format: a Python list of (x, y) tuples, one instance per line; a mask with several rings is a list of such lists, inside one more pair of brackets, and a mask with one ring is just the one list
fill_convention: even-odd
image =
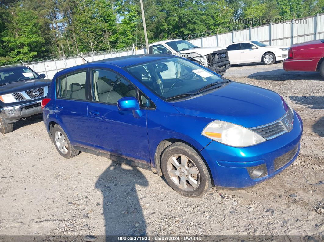
[(282, 68), (245, 65), (225, 74), (283, 94), (304, 121), (299, 157), (272, 180), (186, 198), (140, 168), (88, 153), (64, 159), (41, 118), (32, 118), (0, 135), (0, 235), (324, 238), (324, 80)]

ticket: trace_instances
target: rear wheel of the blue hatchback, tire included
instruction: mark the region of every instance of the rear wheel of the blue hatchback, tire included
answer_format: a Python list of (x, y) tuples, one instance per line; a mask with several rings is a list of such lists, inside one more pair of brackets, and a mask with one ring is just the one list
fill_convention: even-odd
[(67, 138), (66, 133), (59, 125), (55, 125), (52, 130), (52, 136), (54, 139), (54, 145), (56, 150), (62, 155), (64, 158), (69, 159), (75, 157), (80, 152), (75, 150), (69, 139)]

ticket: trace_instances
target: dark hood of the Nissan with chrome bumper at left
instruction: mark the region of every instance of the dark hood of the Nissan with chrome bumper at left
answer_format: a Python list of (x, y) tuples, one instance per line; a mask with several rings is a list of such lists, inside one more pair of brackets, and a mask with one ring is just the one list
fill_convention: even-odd
[(23, 80), (0, 85), (0, 95), (15, 93), (20, 91), (28, 91), (51, 85), (52, 80), (48, 79), (32, 79)]

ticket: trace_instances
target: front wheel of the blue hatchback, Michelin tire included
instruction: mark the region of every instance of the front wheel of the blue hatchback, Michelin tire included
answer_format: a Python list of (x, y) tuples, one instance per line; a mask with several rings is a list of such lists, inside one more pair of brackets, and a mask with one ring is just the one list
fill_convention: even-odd
[[(183, 168), (181, 171), (180, 167), (178, 169), (171, 162), (169, 162), (169, 159), (172, 160), (171, 157), (172, 156), (176, 157), (177, 154), (180, 154), (189, 159), (189, 162), (187, 163), (188, 165), (185, 165), (185, 167), (187, 167), (188, 169)], [(175, 159), (178, 159), (177, 161), (181, 162), (182, 158), (175, 158)], [(181, 163), (180, 165), (184, 165), (184, 164)], [(198, 169), (198, 174), (195, 177), (194, 175), (190, 174), (189, 171), (191, 170), (191, 168), (194, 167)], [(176, 170), (172, 170), (173, 168), (175, 168)], [(212, 187), (211, 177), (203, 159), (193, 148), (191, 148), (190, 146), (184, 143), (175, 142), (165, 149), (165, 151), (162, 154), (161, 169), (169, 186), (181, 195), (191, 197), (191, 198), (201, 197), (204, 194), (206, 194)], [(179, 175), (174, 175), (171, 177), (169, 170), (170, 171), (172, 170), (174, 173), (179, 173)], [(181, 175), (180, 172), (183, 172), (183, 175)], [(188, 178), (188, 176), (190, 176), (190, 178)], [(187, 177), (188, 179), (186, 179), (185, 177)], [(180, 185), (176, 184), (177, 181), (180, 184), (181, 178), (185, 180), (184, 184), (187, 185), (186, 189), (191, 189), (191, 190), (189, 191), (184, 190), (180, 188)], [(193, 179), (197, 178), (196, 180), (197, 184), (195, 184), (197, 185), (197, 187), (194, 188), (194, 186), (192, 186), (191, 183), (189, 183), (189, 180), (191, 180), (192, 182), (191, 178)]]

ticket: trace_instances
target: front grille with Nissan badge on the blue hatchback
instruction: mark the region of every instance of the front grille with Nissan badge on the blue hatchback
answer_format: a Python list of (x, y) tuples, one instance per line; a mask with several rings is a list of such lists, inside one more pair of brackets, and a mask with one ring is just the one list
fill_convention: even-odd
[(263, 138), (267, 140), (271, 140), (286, 132), (290, 132), (293, 128), (293, 123), (294, 113), (290, 108), (288, 108), (288, 111), (280, 120), (270, 123), (268, 125), (250, 128), (250, 130), (253, 130), (254, 132), (260, 134)]

